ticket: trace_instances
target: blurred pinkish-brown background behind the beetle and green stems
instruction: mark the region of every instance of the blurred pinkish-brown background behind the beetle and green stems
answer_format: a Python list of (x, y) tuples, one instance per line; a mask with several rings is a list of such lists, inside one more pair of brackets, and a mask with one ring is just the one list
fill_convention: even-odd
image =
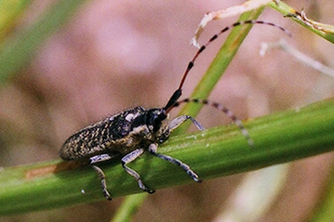
[[(52, 2), (34, 1), (18, 29), (34, 21)], [(163, 106), (196, 53), (189, 41), (203, 15), (242, 2), (88, 1), (43, 44), (18, 78), (0, 88), (0, 166), (59, 158), (61, 144), (81, 127), (128, 107)], [(334, 24), (332, 1), (285, 2), (297, 10), (304, 8), (317, 21)], [(209, 23), (199, 41), (205, 43), (235, 19)], [(271, 50), (264, 58), (258, 51), (261, 42), (284, 38), (334, 67), (334, 46), (269, 8), (259, 19), (280, 24), (293, 38), (275, 28), (255, 25), (209, 98), (246, 119), (332, 97), (332, 78), (282, 50)], [(186, 80), (184, 96), (192, 92), (225, 37), (201, 54)], [(229, 122), (209, 107), (202, 109), (198, 120), (206, 128)], [(260, 221), (307, 220), (317, 206), (332, 160), (329, 153), (292, 163), (278, 198)], [(244, 176), (158, 190), (134, 221), (212, 221)], [(121, 202), (117, 198), (3, 219), (108, 221)]]

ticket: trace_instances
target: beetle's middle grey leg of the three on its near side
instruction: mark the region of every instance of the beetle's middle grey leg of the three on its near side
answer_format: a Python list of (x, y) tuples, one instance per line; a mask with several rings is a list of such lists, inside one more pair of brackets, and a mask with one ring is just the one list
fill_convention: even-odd
[(122, 166), (128, 174), (130, 174), (131, 176), (134, 177), (134, 179), (136, 179), (140, 189), (142, 189), (142, 190), (144, 190), (148, 193), (154, 193), (155, 190), (146, 187), (144, 185), (144, 182), (142, 182), (142, 180), (140, 178), (140, 175), (137, 172), (135, 172), (134, 170), (132, 170), (131, 168), (129, 168), (129, 166), (126, 165), (129, 162), (132, 162), (133, 160), (138, 158), (142, 153), (144, 153), (144, 149), (136, 149), (136, 150), (132, 151), (131, 153), (127, 154), (125, 157), (122, 158)]

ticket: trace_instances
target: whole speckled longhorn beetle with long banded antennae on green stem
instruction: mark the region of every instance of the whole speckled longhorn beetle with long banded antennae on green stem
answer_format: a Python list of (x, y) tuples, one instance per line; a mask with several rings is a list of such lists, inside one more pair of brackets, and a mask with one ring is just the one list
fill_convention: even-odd
[(138, 158), (145, 151), (149, 151), (154, 156), (167, 160), (171, 163), (179, 165), (193, 180), (201, 182), (198, 175), (190, 169), (190, 167), (178, 159), (174, 159), (171, 156), (157, 153), (159, 144), (162, 144), (171, 132), (180, 126), (183, 122), (190, 119), (199, 130), (204, 130), (204, 127), (197, 122), (193, 117), (188, 115), (182, 115), (176, 117), (171, 122), (166, 123), (168, 113), (174, 108), (184, 102), (196, 102), (205, 105), (211, 105), (218, 108), (231, 118), (238, 128), (241, 129), (242, 134), (245, 136), (250, 147), (253, 146), (253, 141), (249, 136), (247, 129), (242, 122), (238, 120), (233, 113), (225, 106), (216, 103), (209, 102), (204, 99), (183, 99), (179, 100), (182, 94), (182, 87), (184, 81), (199, 54), (212, 42), (217, 39), (219, 35), (226, 32), (233, 26), (242, 24), (267, 24), (287, 33), (283, 27), (271, 22), (247, 20), (236, 22), (230, 26), (226, 26), (220, 33), (211, 37), (211, 39), (197, 51), (195, 57), (189, 62), (183, 77), (181, 79), (178, 89), (173, 93), (167, 104), (162, 108), (149, 108), (138, 106), (135, 108), (126, 109), (121, 113), (113, 116), (109, 116), (95, 124), (89, 125), (75, 134), (71, 135), (65, 143), (62, 145), (59, 155), (64, 160), (87, 160), (92, 168), (97, 172), (100, 177), (102, 190), (107, 200), (111, 200), (111, 195), (107, 189), (106, 177), (101, 168), (96, 165), (98, 162), (103, 162), (116, 156), (122, 156), (122, 166), (125, 171), (133, 176), (138, 182), (139, 188), (153, 193), (155, 190), (148, 188), (141, 180), (140, 175), (127, 166), (128, 163)]

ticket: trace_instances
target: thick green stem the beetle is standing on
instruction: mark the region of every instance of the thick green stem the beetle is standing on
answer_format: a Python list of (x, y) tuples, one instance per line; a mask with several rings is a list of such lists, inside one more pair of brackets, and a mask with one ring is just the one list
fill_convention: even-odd
[[(245, 126), (254, 140), (254, 149), (231, 124), (171, 137), (159, 152), (188, 163), (204, 181), (329, 152), (334, 149), (334, 100), (260, 117)], [(0, 214), (104, 200), (98, 176), (89, 166), (55, 173), (61, 164), (56, 160), (2, 170)], [(150, 154), (130, 166), (155, 189), (193, 182), (179, 167)], [(113, 197), (141, 192), (120, 160), (101, 167)]]

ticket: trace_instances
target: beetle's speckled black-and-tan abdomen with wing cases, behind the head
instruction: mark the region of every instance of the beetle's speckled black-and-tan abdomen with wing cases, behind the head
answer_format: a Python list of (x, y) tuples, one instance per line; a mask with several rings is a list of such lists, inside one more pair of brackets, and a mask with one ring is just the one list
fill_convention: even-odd
[(127, 109), (79, 130), (62, 145), (60, 157), (75, 160), (101, 153), (131, 151), (141, 143), (141, 140), (137, 140), (140, 137), (136, 135), (141, 133), (140, 130), (147, 130), (145, 111), (140, 106)]

